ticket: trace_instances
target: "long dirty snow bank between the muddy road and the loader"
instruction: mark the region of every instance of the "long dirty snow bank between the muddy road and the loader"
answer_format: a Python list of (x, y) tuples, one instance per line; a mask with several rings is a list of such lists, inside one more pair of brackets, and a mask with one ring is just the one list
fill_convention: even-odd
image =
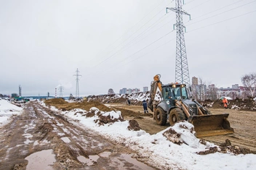
[[(44, 105), (44, 103), (41, 103)], [(52, 110), (58, 111), (54, 107)], [(87, 117), (87, 113), (94, 112), (95, 116)], [(132, 131), (127, 127), (128, 121), (117, 121), (110, 124), (99, 125), (99, 116), (110, 116), (111, 119), (118, 119), (120, 111), (103, 112), (97, 108), (90, 111), (73, 109), (72, 111), (59, 111), (60, 114), (68, 116), (69, 119), (79, 122), (79, 126), (92, 129), (101, 135), (108, 137), (115, 143), (125, 145), (132, 150), (136, 150), (140, 158), (144, 158), (147, 163), (159, 167), (159, 169), (256, 169), (256, 155), (233, 153), (211, 153), (199, 155), (197, 152), (207, 150), (215, 146), (213, 143), (205, 145), (199, 143), (199, 139), (191, 132), (192, 124), (180, 122), (168, 129), (177, 132), (176, 136), (169, 136), (171, 140), (180, 141), (181, 145), (172, 143), (163, 135), (167, 129), (156, 135), (150, 135), (144, 130)], [(185, 144), (186, 143), (186, 144)]]

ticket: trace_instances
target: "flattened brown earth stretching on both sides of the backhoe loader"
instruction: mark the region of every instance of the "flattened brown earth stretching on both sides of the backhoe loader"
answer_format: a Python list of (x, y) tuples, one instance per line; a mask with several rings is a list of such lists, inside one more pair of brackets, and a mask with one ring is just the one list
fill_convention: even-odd
[[(141, 129), (145, 132), (155, 134), (169, 127), (169, 123), (165, 126), (159, 126), (153, 120), (153, 112), (144, 114), (143, 106), (133, 106), (121, 103), (105, 104), (122, 112), (124, 119), (135, 119), (140, 124)], [(231, 135), (217, 135), (212, 137), (201, 137), (201, 139), (221, 145), (228, 139), (232, 145), (239, 145), (241, 148), (248, 148), (252, 153), (256, 153), (256, 112), (255, 111), (238, 111), (235, 109), (214, 109), (209, 108), (212, 114), (228, 113), (228, 121), (234, 129)]]

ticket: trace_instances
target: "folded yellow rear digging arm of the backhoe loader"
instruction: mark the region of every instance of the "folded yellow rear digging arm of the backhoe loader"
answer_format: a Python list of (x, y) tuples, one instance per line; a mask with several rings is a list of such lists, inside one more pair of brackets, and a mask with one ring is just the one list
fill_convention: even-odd
[(156, 110), (156, 101), (155, 101), (156, 90), (157, 88), (159, 88), (159, 90), (161, 91), (161, 85), (162, 85), (160, 81), (160, 77), (161, 75), (156, 75), (155, 77), (153, 77), (153, 82), (151, 82), (151, 93), (150, 93), (150, 100), (148, 103), (148, 108), (151, 109), (151, 111)]

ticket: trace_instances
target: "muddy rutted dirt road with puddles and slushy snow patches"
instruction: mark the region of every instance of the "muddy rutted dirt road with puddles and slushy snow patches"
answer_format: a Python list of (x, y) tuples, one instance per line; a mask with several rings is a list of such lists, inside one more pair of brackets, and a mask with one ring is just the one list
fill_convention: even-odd
[(76, 124), (28, 103), (23, 114), (0, 129), (0, 169), (156, 169)]

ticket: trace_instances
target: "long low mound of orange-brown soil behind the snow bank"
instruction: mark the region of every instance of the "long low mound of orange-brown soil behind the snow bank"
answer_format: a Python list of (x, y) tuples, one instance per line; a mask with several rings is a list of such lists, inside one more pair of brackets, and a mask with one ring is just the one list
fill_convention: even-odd
[(55, 106), (57, 109), (61, 109), (62, 111), (70, 111), (73, 109), (84, 109), (86, 111), (89, 111), (89, 109), (91, 109), (92, 107), (96, 107), (100, 111), (113, 110), (98, 101), (82, 101), (82, 102), (68, 103), (61, 98), (53, 98), (44, 102), (48, 106)]

